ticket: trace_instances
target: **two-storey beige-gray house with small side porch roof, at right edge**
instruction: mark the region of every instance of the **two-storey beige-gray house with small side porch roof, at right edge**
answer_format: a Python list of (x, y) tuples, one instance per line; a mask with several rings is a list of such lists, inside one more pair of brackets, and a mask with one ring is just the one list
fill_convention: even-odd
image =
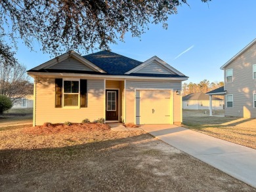
[(225, 116), (256, 118), (256, 39), (221, 69), (224, 70), (223, 89), (207, 94), (225, 95)]

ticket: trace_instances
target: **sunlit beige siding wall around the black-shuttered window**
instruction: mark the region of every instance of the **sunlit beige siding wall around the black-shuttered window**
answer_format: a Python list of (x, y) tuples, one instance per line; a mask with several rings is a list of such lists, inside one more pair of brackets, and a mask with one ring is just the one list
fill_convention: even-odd
[(104, 117), (104, 80), (87, 80), (88, 107), (65, 109), (55, 107), (55, 79), (36, 79), (35, 125), (45, 122), (80, 123), (83, 119), (94, 121)]

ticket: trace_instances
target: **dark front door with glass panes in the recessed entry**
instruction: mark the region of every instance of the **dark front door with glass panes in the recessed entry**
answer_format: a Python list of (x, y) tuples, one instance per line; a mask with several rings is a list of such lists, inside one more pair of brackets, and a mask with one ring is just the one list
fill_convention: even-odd
[(118, 121), (118, 90), (106, 90), (106, 121)]

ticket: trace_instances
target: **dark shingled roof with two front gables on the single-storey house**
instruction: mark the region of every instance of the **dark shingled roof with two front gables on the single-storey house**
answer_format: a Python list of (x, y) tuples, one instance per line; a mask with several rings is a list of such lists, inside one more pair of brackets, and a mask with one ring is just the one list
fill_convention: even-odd
[[(75, 59), (79, 60), (79, 62), (83, 62), (86, 67), (89, 67), (90, 70), (74, 70), (72, 66), (70, 69), (63, 69), (61, 67), (54, 68), (53, 66), (58, 64), (64, 59), (67, 59), (68, 56), (72, 55)], [(177, 69), (169, 66), (160, 58), (154, 56), (150, 58), (150, 61), (156, 61), (160, 67), (164, 67), (168, 71), (169, 74), (160, 74), (160, 73), (140, 73), (139, 70), (135, 70), (131, 72), (133, 69), (137, 69), (136, 67), (140, 67), (142, 64), (148, 64), (146, 62), (139, 62), (137, 60), (128, 58), (126, 56), (122, 56), (120, 54), (116, 54), (114, 52), (110, 52), (107, 50), (103, 50), (100, 52), (96, 52), (93, 54), (88, 54), (85, 56), (80, 56), (74, 51), (67, 52), (66, 54), (62, 54), (49, 62), (41, 64), (40, 66), (34, 67), (30, 69), (28, 72), (47, 72), (47, 73), (86, 73), (92, 75), (122, 75), (122, 76), (137, 76), (137, 77), (184, 77), (187, 78), (184, 74), (179, 72)], [(143, 67), (143, 66), (142, 66)], [(141, 68), (141, 67), (140, 67)], [(129, 73), (127, 73), (129, 72)]]

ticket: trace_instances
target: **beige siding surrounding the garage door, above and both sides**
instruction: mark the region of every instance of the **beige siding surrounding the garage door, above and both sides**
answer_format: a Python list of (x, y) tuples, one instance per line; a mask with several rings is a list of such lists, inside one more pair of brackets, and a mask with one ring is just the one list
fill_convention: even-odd
[[(135, 88), (173, 88), (181, 90), (181, 81), (126, 81), (126, 123), (135, 123)], [(173, 96), (174, 122), (181, 122), (181, 96)]]

